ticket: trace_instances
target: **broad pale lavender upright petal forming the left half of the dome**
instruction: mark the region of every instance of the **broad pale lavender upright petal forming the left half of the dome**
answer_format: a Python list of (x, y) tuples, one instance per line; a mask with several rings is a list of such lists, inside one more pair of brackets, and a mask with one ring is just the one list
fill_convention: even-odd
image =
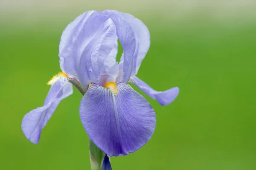
[(105, 59), (114, 55), (116, 27), (101, 11), (87, 11), (64, 30), (60, 42), (61, 68), (79, 79), (85, 89), (89, 82), (99, 83)]

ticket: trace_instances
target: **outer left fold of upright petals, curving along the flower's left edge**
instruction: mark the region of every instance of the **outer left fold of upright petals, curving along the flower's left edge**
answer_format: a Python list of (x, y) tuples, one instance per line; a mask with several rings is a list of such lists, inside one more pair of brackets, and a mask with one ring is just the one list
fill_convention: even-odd
[(87, 11), (76, 17), (63, 31), (59, 45), (59, 57), (61, 70), (72, 78), (77, 78), (77, 55), (74, 55), (74, 45), (80, 31), (83, 31), (83, 24), (94, 11)]

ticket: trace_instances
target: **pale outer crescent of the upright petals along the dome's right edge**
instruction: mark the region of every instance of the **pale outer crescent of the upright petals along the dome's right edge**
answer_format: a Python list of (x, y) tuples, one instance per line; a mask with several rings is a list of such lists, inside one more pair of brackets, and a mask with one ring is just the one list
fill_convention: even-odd
[(140, 64), (144, 59), (146, 53), (148, 52), (148, 48), (150, 46), (150, 34), (147, 26), (145, 26), (145, 24), (141, 20), (135, 18), (131, 14), (122, 13), (122, 12), (118, 12), (118, 13), (121, 16), (122, 20), (125, 20), (130, 24), (135, 34), (137, 55), (134, 56), (133, 69), (131, 73), (131, 76), (134, 76), (137, 74), (140, 68)]

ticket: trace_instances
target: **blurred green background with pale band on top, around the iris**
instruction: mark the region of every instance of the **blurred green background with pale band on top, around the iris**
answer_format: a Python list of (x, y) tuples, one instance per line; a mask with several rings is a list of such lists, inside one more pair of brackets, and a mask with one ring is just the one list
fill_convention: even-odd
[(151, 47), (138, 77), (158, 91), (180, 88), (164, 107), (135, 88), (153, 106), (157, 127), (140, 150), (112, 157), (113, 170), (255, 170), (255, 0), (0, 0), (0, 169), (90, 169), (75, 88), (39, 144), (20, 125), (60, 71), (64, 28), (84, 11), (105, 9), (148, 26)]

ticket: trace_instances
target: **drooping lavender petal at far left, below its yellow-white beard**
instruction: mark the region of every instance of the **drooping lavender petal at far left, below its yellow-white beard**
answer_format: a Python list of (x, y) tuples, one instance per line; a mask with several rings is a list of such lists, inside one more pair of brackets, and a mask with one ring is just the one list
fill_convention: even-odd
[(50, 88), (44, 106), (30, 111), (23, 117), (21, 128), (29, 141), (38, 143), (42, 128), (47, 124), (58, 104), (72, 93), (72, 84), (66, 79), (59, 79)]

